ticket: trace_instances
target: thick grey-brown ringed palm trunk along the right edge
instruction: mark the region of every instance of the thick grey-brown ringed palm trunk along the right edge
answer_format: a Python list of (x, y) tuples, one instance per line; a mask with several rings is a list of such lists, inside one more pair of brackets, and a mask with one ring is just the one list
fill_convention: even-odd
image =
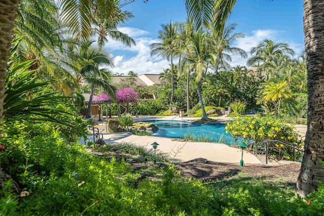
[(304, 0), (305, 54), (308, 74), (308, 114), (305, 153), (297, 194), (306, 196), (324, 181), (324, 2)]

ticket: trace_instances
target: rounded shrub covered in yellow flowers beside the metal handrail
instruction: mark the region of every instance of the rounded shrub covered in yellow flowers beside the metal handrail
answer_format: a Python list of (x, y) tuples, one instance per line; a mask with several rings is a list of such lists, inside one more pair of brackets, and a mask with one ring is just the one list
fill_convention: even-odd
[[(303, 149), (304, 142), (294, 126), (281, 122), (280, 119), (271, 116), (266, 117), (240, 117), (232, 122), (227, 123), (226, 133), (238, 140), (244, 138), (247, 143), (249, 139), (256, 139), (257, 142), (265, 140), (279, 140), (292, 143), (296, 148)], [(277, 156), (281, 159), (294, 159), (294, 151), (283, 144), (271, 143), (268, 148), (270, 155)], [(296, 151), (296, 159), (302, 157), (301, 152)]]

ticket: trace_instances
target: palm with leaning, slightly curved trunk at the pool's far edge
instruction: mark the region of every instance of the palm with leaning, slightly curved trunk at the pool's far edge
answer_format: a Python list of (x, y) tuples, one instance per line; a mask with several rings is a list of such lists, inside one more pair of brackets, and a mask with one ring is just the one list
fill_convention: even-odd
[(207, 62), (211, 61), (215, 64), (215, 52), (210, 46), (210, 38), (207, 37), (206, 33), (202, 33), (201, 29), (197, 33), (193, 34), (190, 38), (191, 42), (188, 45), (189, 54), (183, 58), (184, 64), (190, 64), (196, 73), (197, 91), (201, 109), (203, 110), (203, 119), (208, 119), (203, 98), (201, 97), (200, 81), (203, 77), (204, 69), (207, 68)]

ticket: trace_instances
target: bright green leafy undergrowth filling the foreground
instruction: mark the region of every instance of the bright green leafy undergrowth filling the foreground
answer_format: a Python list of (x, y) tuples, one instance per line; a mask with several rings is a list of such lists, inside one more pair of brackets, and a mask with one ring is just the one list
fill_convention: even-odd
[[(1, 158), (26, 196), (13, 192), (10, 182), (0, 191), (2, 215), (314, 215), (321, 212), (323, 187), (307, 205), (294, 190), (240, 178), (203, 183), (181, 178), (171, 166), (151, 166), (154, 181), (142, 178), (124, 160), (105, 160), (71, 143), (52, 123), (7, 122), (2, 125)], [(107, 147), (152, 160), (148, 146), (130, 143)], [(169, 161), (157, 152), (158, 161)], [(150, 165), (148, 165), (150, 166)], [(109, 196), (107, 196), (109, 194)], [(307, 200), (306, 200), (307, 201)]]

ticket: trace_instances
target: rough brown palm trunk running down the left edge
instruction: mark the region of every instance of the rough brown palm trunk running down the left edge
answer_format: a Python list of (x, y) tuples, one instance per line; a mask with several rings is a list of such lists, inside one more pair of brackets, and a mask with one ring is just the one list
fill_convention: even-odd
[[(3, 119), (7, 67), (10, 57), (13, 29), (15, 27), (19, 0), (0, 0), (0, 122)], [(3, 181), (10, 179), (0, 165), (0, 190)]]

